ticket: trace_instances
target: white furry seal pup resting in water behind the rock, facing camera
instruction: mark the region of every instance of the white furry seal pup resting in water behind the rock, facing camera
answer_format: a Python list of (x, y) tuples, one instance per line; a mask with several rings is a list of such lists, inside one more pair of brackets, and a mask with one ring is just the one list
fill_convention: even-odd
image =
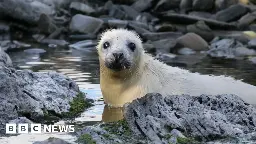
[(147, 54), (140, 37), (133, 31), (105, 31), (97, 51), (103, 99), (113, 107), (122, 107), (147, 93), (163, 96), (236, 94), (256, 103), (255, 86), (231, 77), (200, 75), (168, 66)]

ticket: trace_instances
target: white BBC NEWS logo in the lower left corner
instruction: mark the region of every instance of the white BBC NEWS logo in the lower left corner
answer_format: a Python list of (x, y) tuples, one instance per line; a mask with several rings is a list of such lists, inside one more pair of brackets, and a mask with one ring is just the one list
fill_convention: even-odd
[(74, 125), (6, 124), (5, 129), (6, 134), (75, 132)]

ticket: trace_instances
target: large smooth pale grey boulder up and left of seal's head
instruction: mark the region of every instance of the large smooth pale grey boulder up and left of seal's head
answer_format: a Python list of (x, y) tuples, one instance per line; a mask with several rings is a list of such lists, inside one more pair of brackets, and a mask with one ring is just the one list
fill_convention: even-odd
[(97, 33), (103, 21), (94, 17), (77, 14), (72, 17), (69, 29), (71, 32)]

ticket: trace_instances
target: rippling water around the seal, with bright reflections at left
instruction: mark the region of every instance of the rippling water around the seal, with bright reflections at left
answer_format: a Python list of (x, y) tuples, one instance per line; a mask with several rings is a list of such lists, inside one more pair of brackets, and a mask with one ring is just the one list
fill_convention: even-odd
[[(94, 99), (95, 106), (75, 118), (73, 123), (78, 127), (92, 125), (104, 121), (121, 119), (122, 109), (109, 109), (104, 106), (99, 85), (99, 62), (94, 48), (84, 51), (69, 48), (48, 48), (45, 45), (34, 45), (35, 48), (45, 49), (46, 53), (27, 53), (24, 50), (10, 52), (9, 55), (17, 69), (31, 69), (38, 72), (57, 71), (72, 78), (87, 93), (87, 97)], [(228, 75), (236, 79), (256, 85), (256, 68), (246, 61), (218, 60), (203, 55), (180, 56), (175, 60), (167, 61), (169, 65), (189, 69), (192, 72), (212, 75)], [(105, 109), (104, 109), (105, 108)], [(103, 113), (104, 111), (104, 113)], [(102, 116), (102, 114), (104, 114)], [(59, 123), (67, 123), (60, 121)], [(0, 138), (1, 144), (32, 144), (49, 137), (58, 137), (75, 143), (71, 134), (22, 134)]]

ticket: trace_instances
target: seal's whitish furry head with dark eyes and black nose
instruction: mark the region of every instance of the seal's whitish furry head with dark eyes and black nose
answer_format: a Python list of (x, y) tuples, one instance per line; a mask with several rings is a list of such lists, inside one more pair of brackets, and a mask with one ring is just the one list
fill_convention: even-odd
[(97, 46), (100, 62), (112, 71), (134, 67), (143, 52), (139, 36), (126, 29), (104, 32)]

